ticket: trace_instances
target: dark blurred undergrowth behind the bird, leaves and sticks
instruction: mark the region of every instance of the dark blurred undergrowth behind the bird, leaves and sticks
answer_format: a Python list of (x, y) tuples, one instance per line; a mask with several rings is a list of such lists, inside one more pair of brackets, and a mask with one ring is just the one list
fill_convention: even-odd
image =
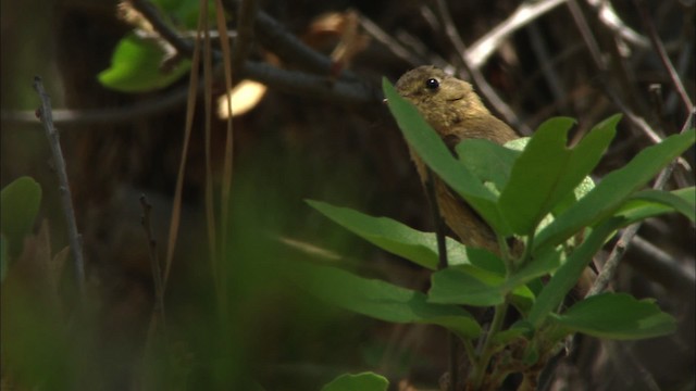
[[(651, 23), (693, 100), (694, 3), (647, 3)], [(678, 133), (686, 111), (655, 50), (627, 45), (630, 54), (620, 55), (621, 43), (596, 12), (584, 2), (579, 5), (609, 67), (598, 71), (569, 7), (542, 15), (513, 34), (480, 70), (517, 114), (513, 125), (534, 129), (549, 116), (567, 115), (577, 118), (575, 134), (580, 136), (600, 119), (629, 109), (662, 136)], [(613, 5), (629, 26), (646, 34), (634, 2), (616, 1)], [(410, 48), (422, 48), (417, 55), (421, 64), (458, 65), (458, 54), (440, 24), (428, 22), (436, 13), (434, 2), (269, 0), (259, 7), (290, 33), (306, 38), (311, 37), (310, 23), (319, 15), (353, 9), (391, 37), (406, 41), (406, 47), (411, 42)], [(449, 2), (467, 45), (502, 23), (517, 7), (517, 1), (507, 0)], [(114, 46), (129, 30), (116, 17), (115, 9), (113, 1), (2, 1), (1, 185), (22, 175), (39, 181), (44, 189), (40, 219), (49, 223), (54, 251), (65, 245), (66, 235), (46, 138), (38, 122), (16, 115), (38, 106), (32, 90), (34, 75), (42, 76), (55, 109), (83, 111), (146, 104), (187, 85), (183, 79), (165, 90), (144, 94), (119, 93), (99, 85), (96, 75), (109, 66)], [(331, 52), (331, 37), (327, 43), (321, 42), (314, 43), (316, 49)], [(535, 45), (547, 51), (547, 59)], [(256, 46), (252, 55), (263, 59), (269, 50), (273, 48)], [(352, 60), (351, 71), (377, 90), (382, 76), (395, 81), (414, 65), (420, 64), (397, 58), (372, 38)], [(661, 101), (649, 92), (651, 85), (661, 86)], [(217, 91), (222, 86), (219, 81)], [(115, 121), (60, 124), (84, 236), (92, 324), (79, 342), (67, 339), (51, 354), (44, 345), (23, 361), (18, 358), (23, 354), (3, 349), (3, 386), (25, 389), (38, 381), (45, 387), (53, 384), (46, 389), (125, 390), (145, 383), (159, 384), (153, 386), (157, 389), (163, 387), (162, 380), (151, 378), (167, 378), (167, 389), (197, 390), (216, 388), (220, 379), (254, 379), (268, 390), (310, 390), (340, 373), (375, 370), (391, 380), (393, 389), (399, 382), (403, 389), (408, 384), (436, 389), (446, 370), (442, 330), (389, 325), (332, 308), (283, 279), (293, 262), (309, 256), (297, 245), (288, 245), (290, 240), (302, 243), (304, 250), (311, 244), (337, 254), (340, 263), (363, 275), (426, 288), (423, 272), (343, 231), (303, 202), (308, 198), (324, 200), (432, 229), (426, 199), (398, 129), (378, 100), (335, 104), (274, 86), (252, 112), (234, 122), (233, 228), (228, 239), (234, 256), (228, 267), (235, 316), (229, 335), (235, 349), (227, 358), (233, 360), (235, 369), (226, 375), (216, 369), (225, 354), (217, 351), (220, 341), (213, 337), (217, 333), (212, 326), (215, 306), (204, 244), (202, 114), (194, 127), (179, 244), (167, 286), (169, 364), (144, 366), (151, 363), (144, 358), (144, 345), (153, 286), (138, 197), (145, 193), (153, 205), (153, 231), (163, 251), (185, 108), (186, 102), (181, 101), (148, 115), (125, 113)], [(202, 99), (198, 109), (202, 113)], [(217, 177), (224, 126), (222, 121), (213, 122)], [(624, 165), (651, 143), (624, 115), (596, 175)], [(692, 150), (686, 155), (692, 165), (693, 156)], [(668, 188), (693, 186), (693, 180), (692, 171), (678, 167)], [(647, 222), (638, 236), (641, 242), (626, 253), (613, 288), (638, 298), (657, 298), (659, 305), (678, 318), (680, 330), (639, 342), (582, 338), (577, 349), (559, 361), (550, 389), (694, 388), (694, 226), (684, 217), (670, 215)], [(655, 249), (657, 253), (651, 252)], [(660, 260), (667, 260), (667, 266)], [(70, 280), (69, 276), (62, 278)], [(3, 286), (3, 315), (12, 307), (7, 290)], [(5, 331), (4, 321), (7, 346), (7, 339), (15, 336)], [(60, 339), (60, 332), (54, 336), (51, 327), (48, 330), (49, 340)], [(21, 363), (39, 366), (37, 362), (44, 362), (46, 367), (41, 368), (61, 370), (22, 369)]]

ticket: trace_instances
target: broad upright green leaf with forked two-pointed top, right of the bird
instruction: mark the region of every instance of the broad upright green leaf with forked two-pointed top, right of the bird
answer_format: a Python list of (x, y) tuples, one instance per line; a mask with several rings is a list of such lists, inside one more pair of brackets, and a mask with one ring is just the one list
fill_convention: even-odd
[(574, 148), (567, 147), (571, 118), (552, 118), (539, 126), (512, 166), (499, 206), (515, 234), (531, 235), (542, 218), (599, 163), (616, 134), (619, 116), (597, 125)]

